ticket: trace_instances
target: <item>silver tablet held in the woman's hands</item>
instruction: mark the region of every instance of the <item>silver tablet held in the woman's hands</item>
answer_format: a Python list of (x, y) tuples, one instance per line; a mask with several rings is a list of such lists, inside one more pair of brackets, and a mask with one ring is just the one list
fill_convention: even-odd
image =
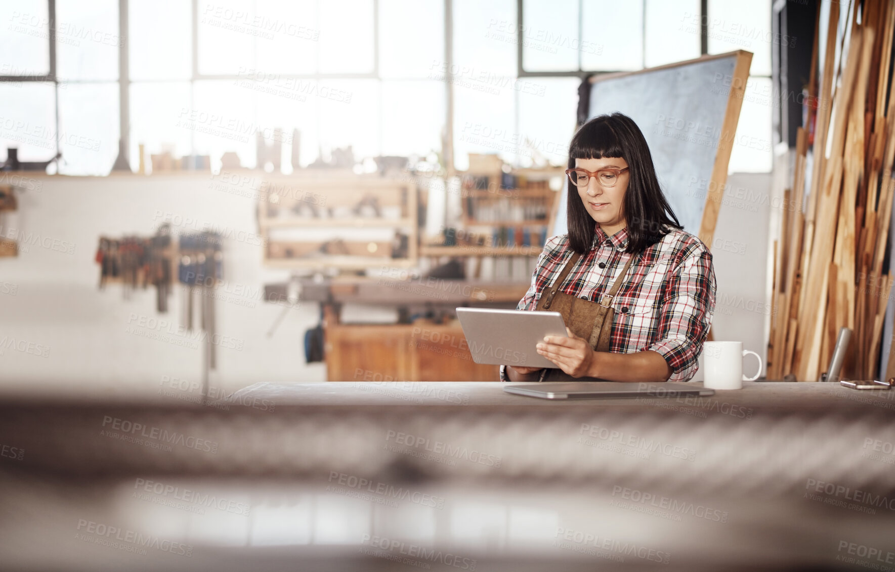
[(567, 336), (559, 312), (457, 308), (456, 317), (475, 363), (553, 368), (535, 346), (544, 336)]

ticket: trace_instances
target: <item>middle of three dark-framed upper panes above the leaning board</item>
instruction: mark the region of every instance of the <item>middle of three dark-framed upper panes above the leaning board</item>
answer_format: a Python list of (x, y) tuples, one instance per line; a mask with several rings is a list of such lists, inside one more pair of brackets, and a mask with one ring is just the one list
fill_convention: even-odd
[(585, 70), (640, 70), (644, 67), (644, 4), (582, 0), (582, 52)]

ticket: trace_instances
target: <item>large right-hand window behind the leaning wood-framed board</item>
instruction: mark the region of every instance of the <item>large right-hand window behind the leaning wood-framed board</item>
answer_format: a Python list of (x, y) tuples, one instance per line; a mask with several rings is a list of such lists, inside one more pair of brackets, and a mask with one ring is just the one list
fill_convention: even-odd
[[(734, 147), (729, 171), (771, 170), (771, 2), (708, 0), (706, 13), (702, 13), (700, 0), (519, 0), (519, 4), (521, 25), (499, 23), (499, 34), (494, 37), (508, 38), (514, 45), (522, 42), (518, 74), (533, 81), (545, 76), (580, 78), (590, 73), (635, 71), (703, 53), (753, 52), (736, 137), (736, 141), (751, 144)], [(464, 29), (462, 22), (457, 29)], [(707, 39), (704, 47), (703, 33)], [(568, 95), (556, 90), (567, 89), (551, 86), (544, 96), (543, 113), (552, 113), (553, 106)], [(576, 94), (572, 95), (576, 101)], [(520, 124), (532, 120), (522, 116), (524, 107), (520, 101)], [(554, 116), (552, 125), (563, 125), (565, 131), (556, 127), (553, 131), (567, 141), (572, 129), (565, 118), (575, 107), (566, 104), (559, 109), (565, 109), (567, 115)], [(532, 112), (529, 109), (524, 114)], [(536, 133), (540, 134), (540, 129)]]

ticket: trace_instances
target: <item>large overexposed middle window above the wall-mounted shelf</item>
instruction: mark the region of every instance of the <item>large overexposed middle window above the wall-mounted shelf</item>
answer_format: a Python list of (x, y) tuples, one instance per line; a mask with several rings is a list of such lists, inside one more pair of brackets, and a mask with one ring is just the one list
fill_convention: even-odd
[[(133, 44), (132, 168), (140, 144), (146, 154), (207, 155), (216, 170), (232, 151), (253, 167), (258, 133), (280, 145), (286, 172), (337, 148), (357, 159), (440, 149), (444, 90), (428, 69), (443, 59), (442, 0), (193, 4), (171, 5), (179, 56), (166, 46), (166, 58), (147, 58)], [(164, 44), (158, 3), (130, 5), (132, 36)], [(147, 114), (152, 101), (161, 103)]]

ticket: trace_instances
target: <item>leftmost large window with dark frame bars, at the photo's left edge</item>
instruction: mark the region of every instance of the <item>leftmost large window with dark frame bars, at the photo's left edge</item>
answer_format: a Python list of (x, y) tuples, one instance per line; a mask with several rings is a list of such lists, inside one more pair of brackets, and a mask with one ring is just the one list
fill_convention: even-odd
[(0, 157), (7, 158), (7, 149), (17, 149), (21, 161), (62, 153), (51, 169), (108, 172), (118, 151), (118, 54), (124, 41), (117, 0), (5, 2), (0, 21)]

